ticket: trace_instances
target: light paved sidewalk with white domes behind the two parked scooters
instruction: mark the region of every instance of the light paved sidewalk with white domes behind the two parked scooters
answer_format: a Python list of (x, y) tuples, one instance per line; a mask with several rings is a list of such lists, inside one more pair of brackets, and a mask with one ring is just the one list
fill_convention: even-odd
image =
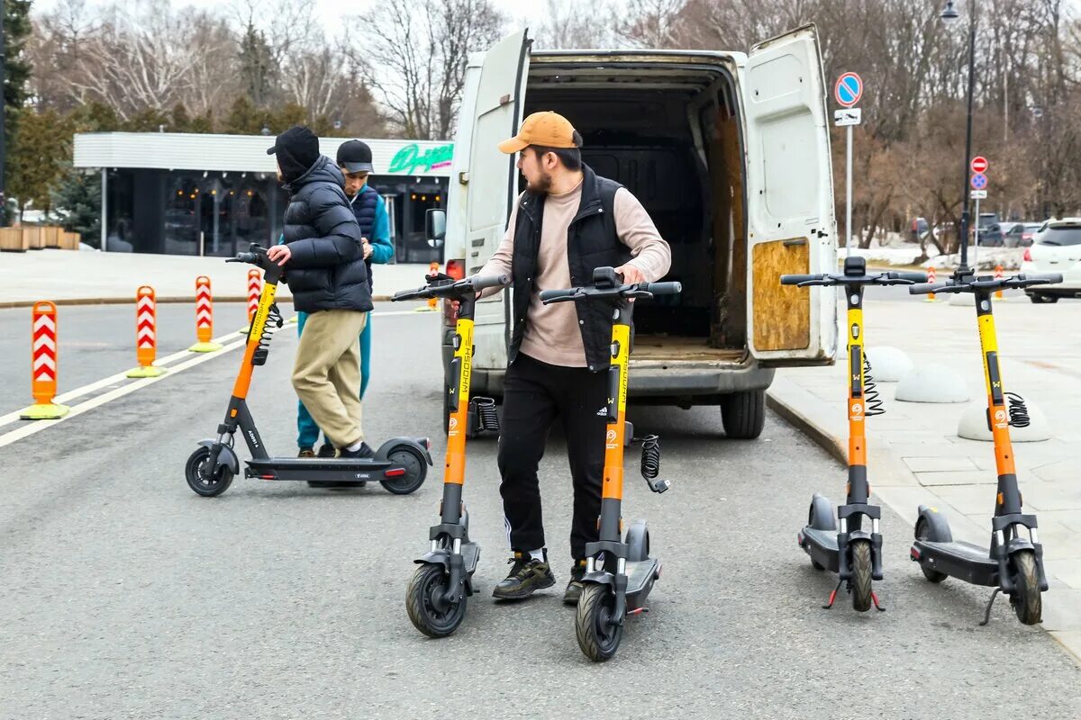
[[(1025, 506), (1038, 515), (1051, 576), (1043, 627), (1081, 658), (1081, 302), (1035, 305), (1012, 296), (995, 310), (1005, 390), (1042, 411), (1052, 433), (1045, 441), (1014, 441)], [(839, 313), (844, 316), (843, 302)], [(986, 546), (997, 487), (993, 447), (957, 435), (967, 407), (986, 407), (975, 310), (899, 295), (868, 297), (865, 330), (868, 347), (892, 345), (917, 367), (935, 363), (961, 372), (970, 392), (967, 404), (903, 403), (894, 399), (897, 383), (877, 381), (886, 413), (867, 421), (873, 493), (911, 522), (919, 504), (935, 505), (956, 539)], [(771, 406), (839, 458), (848, 452), (846, 376), (843, 362), (784, 369), (769, 391)], [(816, 478), (808, 498), (820, 491), (840, 502), (843, 483), (841, 473)], [(886, 539), (889, 552), (907, 553), (909, 541)]]

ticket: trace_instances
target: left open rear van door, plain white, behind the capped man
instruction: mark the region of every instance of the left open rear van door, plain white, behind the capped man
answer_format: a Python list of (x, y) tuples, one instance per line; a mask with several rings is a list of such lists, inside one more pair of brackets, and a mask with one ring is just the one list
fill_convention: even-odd
[[(457, 178), (469, 188), (465, 222), (467, 274), (480, 270), (499, 247), (511, 203), (518, 196), (516, 158), (499, 152), (496, 146), (516, 135), (522, 121), (531, 42), (526, 32), (521, 30), (504, 38), (484, 54), (473, 116), (463, 116), (458, 121), (459, 137), (470, 123), (472, 125), (469, 168), (464, 177)], [(505, 290), (477, 303), (478, 355), (473, 363), (478, 367), (503, 367), (507, 363), (508, 295), (509, 290)], [(481, 342), (479, 338), (484, 335), (498, 335), (498, 338)]]

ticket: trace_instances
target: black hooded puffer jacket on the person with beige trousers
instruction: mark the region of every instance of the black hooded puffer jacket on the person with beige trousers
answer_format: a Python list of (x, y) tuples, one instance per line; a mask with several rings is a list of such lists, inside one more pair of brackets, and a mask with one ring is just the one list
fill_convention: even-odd
[(292, 254), (285, 276), (298, 311), (372, 309), (360, 226), (344, 187), (342, 172), (324, 155), (284, 186), (291, 196), (283, 234)]

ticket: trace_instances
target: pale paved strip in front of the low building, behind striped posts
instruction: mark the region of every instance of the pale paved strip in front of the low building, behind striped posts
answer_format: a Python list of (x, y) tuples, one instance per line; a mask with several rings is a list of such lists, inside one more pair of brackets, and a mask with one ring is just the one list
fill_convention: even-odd
[[(134, 302), (135, 289), (150, 285), (159, 301), (195, 300), (199, 275), (211, 279), (214, 298), (243, 300), (251, 266), (225, 258), (135, 253), (31, 250), (0, 254), (0, 308), (36, 300), (70, 302)], [(373, 270), (377, 298), (424, 284), (427, 264), (385, 264)], [(291, 297), (282, 285), (282, 298)]]

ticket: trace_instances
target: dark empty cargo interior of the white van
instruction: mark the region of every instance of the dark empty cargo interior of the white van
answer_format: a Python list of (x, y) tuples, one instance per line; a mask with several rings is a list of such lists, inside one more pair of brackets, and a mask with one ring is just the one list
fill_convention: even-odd
[[(561, 63), (563, 62), (563, 74)], [(630, 190), (672, 250), (683, 293), (635, 312), (636, 362), (740, 362), (747, 347), (740, 138), (716, 60), (636, 63), (533, 56), (525, 113), (555, 110), (585, 140), (583, 160)], [(593, 59), (591, 57), (590, 59)], [(664, 340), (662, 344), (660, 340)]]

